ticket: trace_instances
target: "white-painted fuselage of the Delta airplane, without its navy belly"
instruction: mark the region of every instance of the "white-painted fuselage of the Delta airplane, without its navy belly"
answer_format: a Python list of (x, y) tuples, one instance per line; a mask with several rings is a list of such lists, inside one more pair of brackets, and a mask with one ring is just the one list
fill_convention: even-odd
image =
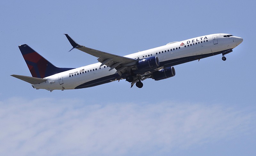
[[(184, 41), (172, 42), (161, 47), (126, 55), (125, 57), (141, 59), (149, 56), (157, 56), (161, 63), (189, 56), (200, 56), (211, 53), (214, 55), (216, 52), (233, 49), (242, 42), (239, 37), (224, 37), (224, 35), (228, 34), (210, 34)], [(51, 75), (46, 77), (47, 81), (34, 84), (33, 87), (47, 90), (75, 89), (78, 85), (116, 73), (115, 69), (109, 71), (110, 67), (106, 65), (100, 67), (100, 65), (101, 63), (94, 63)]]

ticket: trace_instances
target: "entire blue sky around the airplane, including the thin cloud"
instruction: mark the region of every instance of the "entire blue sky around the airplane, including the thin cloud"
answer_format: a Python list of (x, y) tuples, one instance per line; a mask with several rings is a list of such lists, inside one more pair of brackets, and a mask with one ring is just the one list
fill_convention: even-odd
[[(254, 1), (1, 1), (0, 155), (255, 155)], [(18, 45), (58, 67), (172, 41), (231, 33), (233, 52), (175, 66), (176, 76), (79, 90), (36, 90)]]

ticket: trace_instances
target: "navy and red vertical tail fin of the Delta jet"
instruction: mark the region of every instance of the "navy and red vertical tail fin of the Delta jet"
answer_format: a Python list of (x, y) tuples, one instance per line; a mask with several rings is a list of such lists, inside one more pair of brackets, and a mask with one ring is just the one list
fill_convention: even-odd
[(28, 69), (35, 78), (45, 78), (63, 71), (74, 68), (59, 68), (47, 61), (43, 56), (39, 55), (34, 49), (27, 44), (19, 46), (20, 52), (28, 65)]

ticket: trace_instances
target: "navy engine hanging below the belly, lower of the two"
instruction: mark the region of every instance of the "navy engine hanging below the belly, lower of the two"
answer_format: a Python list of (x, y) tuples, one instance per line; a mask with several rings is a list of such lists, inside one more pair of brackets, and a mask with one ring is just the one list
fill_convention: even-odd
[(157, 80), (163, 80), (165, 78), (171, 78), (173, 76), (175, 76), (174, 67), (168, 67), (168, 68), (164, 68), (159, 71), (153, 72), (152, 79), (155, 79), (157, 81)]

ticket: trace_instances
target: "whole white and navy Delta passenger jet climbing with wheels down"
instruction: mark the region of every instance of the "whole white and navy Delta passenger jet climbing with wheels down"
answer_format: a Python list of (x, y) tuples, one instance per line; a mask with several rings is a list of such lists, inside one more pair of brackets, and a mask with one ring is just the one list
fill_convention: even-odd
[(222, 54), (222, 60), (225, 61), (225, 55), (243, 41), (242, 38), (231, 34), (216, 33), (118, 56), (77, 44), (68, 34), (65, 35), (72, 45), (71, 50), (78, 49), (95, 56), (99, 63), (79, 68), (59, 68), (27, 44), (23, 44), (19, 49), (32, 77), (11, 76), (30, 83), (33, 88), (46, 89), (50, 92), (88, 88), (121, 79), (131, 83), (131, 87), (136, 84), (138, 88), (142, 88), (141, 81), (147, 78), (158, 81), (175, 76), (173, 66), (181, 63), (199, 61), (218, 54)]

